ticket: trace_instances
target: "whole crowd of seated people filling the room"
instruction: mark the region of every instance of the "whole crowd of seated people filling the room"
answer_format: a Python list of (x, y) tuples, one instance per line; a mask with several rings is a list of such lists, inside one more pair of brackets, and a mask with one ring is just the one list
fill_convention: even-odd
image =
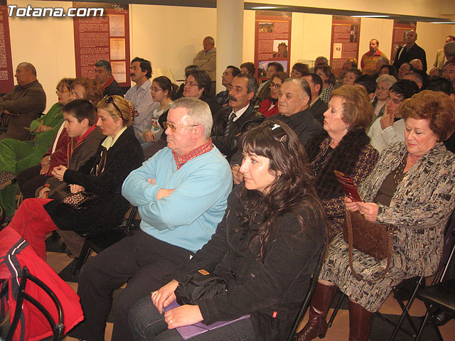
[[(0, 141), (5, 222), (45, 259), (50, 232), (80, 247), (80, 234), (112, 229), (138, 207), (140, 231), (82, 267), (85, 320), (70, 332), (81, 340), (104, 340), (112, 291), (125, 282), (112, 340), (180, 340), (177, 327), (245, 315), (194, 340), (237, 340), (232, 330), (238, 340), (284, 340), (326, 249), (299, 340), (326, 335), (339, 288), (349, 297), (349, 340), (366, 341), (392, 286), (434, 274), (455, 208), (455, 64), (429, 77), (418, 61), (397, 70), (380, 57), (363, 75), (347, 60), (338, 79), (326, 58), (291, 70), (274, 61), (261, 84), (253, 63), (228, 65), (215, 96), (197, 65), (178, 87), (134, 58), (136, 85), (123, 97), (100, 60), (95, 80), (58, 83), (58, 103), (24, 126), (33, 141)], [(22, 63), (16, 72), (38, 91), (33, 70)], [(363, 202), (346, 197), (333, 171), (353, 178)], [(395, 227), (392, 266), (373, 284), (351, 272), (346, 210)], [(384, 265), (358, 250), (353, 264), (371, 278)], [(228, 291), (166, 309), (198, 269), (222, 276)]]

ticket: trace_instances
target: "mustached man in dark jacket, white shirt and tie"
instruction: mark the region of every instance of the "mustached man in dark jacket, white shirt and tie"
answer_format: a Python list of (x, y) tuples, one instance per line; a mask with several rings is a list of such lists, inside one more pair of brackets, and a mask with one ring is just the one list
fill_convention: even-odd
[(213, 144), (228, 161), (237, 151), (237, 143), (243, 132), (260, 124), (265, 118), (253, 107), (256, 92), (255, 77), (246, 73), (235, 76), (229, 90), (228, 107), (218, 110), (213, 117)]

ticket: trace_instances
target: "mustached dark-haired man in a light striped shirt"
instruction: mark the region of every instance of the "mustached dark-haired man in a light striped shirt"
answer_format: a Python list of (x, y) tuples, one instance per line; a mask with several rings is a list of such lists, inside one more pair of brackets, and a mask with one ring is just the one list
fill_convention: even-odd
[[(151, 98), (151, 63), (149, 60), (136, 57), (131, 61), (130, 76), (131, 80), (136, 83), (134, 87), (129, 89), (125, 94), (125, 99), (128, 99), (134, 105), (137, 111), (137, 116), (134, 117), (134, 134), (141, 144), (144, 143), (138, 133), (142, 131), (149, 123), (151, 114), (159, 106), (159, 102), (154, 102)], [(145, 145), (144, 145), (145, 146)], [(148, 144), (146, 145), (148, 146)]]

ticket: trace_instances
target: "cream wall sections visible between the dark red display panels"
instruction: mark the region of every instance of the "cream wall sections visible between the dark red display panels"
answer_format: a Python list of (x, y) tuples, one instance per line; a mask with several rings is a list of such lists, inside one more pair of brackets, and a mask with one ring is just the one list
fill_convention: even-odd
[[(266, 0), (261, 0), (267, 2)], [(442, 0), (445, 1), (445, 0)], [(430, 6), (433, 1), (413, 0), (348, 0), (336, 3), (338, 8), (368, 10), (378, 4), (395, 13), (419, 13), (437, 16)], [(453, 1), (455, 3), (455, 1)], [(301, 1), (287, 1), (299, 4)], [(305, 6), (334, 6), (328, 0), (308, 0)], [(437, 1), (439, 4), (439, 1)], [(9, 4), (25, 7), (53, 6), (68, 9), (68, 1), (11, 0)], [(405, 6), (407, 4), (407, 6)], [(422, 14), (422, 11), (431, 11)], [(449, 11), (450, 6), (447, 7)], [(177, 6), (132, 5), (130, 10), (131, 56), (151, 60), (154, 68), (169, 68), (176, 79), (183, 77), (184, 67), (191, 64), (194, 55), (202, 49), (205, 36), (216, 40), (216, 9), (201, 9)], [(371, 9), (370, 9), (371, 10)], [(455, 13), (455, 12), (454, 12)], [(255, 11), (245, 11), (242, 60), (253, 61), (255, 50)], [(299, 59), (314, 60), (319, 55), (330, 57), (331, 16), (321, 14), (293, 13), (291, 36), (291, 65)], [(56, 102), (55, 85), (62, 77), (75, 77), (75, 53), (73, 20), (71, 18), (10, 18), (12, 62), (28, 61), (36, 66), (38, 80), (43, 84), (48, 97), (48, 108)], [(380, 40), (380, 49), (390, 56), (392, 41), (391, 20), (362, 18), (360, 28), (360, 56), (368, 50), (371, 38)], [(417, 23), (417, 43), (427, 51), (427, 63), (432, 65), (437, 49), (444, 38), (455, 35), (455, 26)], [(221, 75), (223, 70), (218, 70)]]

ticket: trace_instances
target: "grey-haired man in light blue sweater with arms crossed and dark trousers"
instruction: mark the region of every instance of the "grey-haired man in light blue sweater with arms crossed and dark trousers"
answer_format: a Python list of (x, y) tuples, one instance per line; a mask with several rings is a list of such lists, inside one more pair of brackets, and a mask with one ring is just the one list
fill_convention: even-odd
[(230, 166), (210, 139), (212, 115), (191, 97), (171, 104), (168, 148), (132, 171), (122, 194), (139, 208), (141, 231), (100, 252), (80, 272), (77, 294), (85, 320), (70, 332), (104, 340), (111, 294), (128, 282), (114, 310), (112, 340), (132, 340), (128, 310), (163, 286), (162, 276), (203, 246), (223, 218), (232, 189)]

